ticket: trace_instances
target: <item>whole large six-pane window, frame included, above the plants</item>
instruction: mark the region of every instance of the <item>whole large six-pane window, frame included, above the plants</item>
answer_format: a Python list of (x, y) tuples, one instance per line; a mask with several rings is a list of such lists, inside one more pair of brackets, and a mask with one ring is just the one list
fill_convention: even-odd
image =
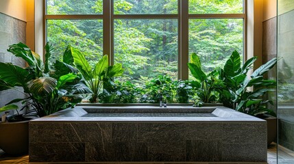
[(235, 49), (243, 56), (245, 0), (45, 0), (45, 40), (59, 59), (67, 45), (95, 63), (103, 54), (125, 68), (122, 81), (160, 74), (188, 79), (188, 56), (206, 72)]

